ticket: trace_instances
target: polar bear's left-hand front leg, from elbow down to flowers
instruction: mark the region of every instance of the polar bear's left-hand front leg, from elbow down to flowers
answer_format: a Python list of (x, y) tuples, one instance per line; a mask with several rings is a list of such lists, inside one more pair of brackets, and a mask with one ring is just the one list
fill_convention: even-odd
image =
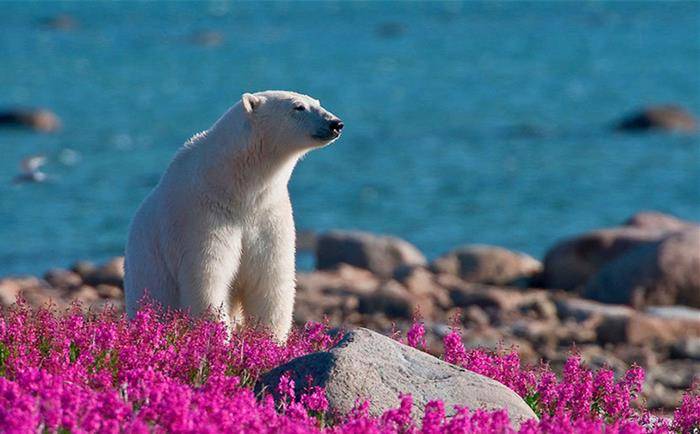
[(177, 276), (180, 306), (195, 316), (211, 309), (231, 328), (231, 282), (240, 258), (240, 236), (210, 239), (184, 252)]

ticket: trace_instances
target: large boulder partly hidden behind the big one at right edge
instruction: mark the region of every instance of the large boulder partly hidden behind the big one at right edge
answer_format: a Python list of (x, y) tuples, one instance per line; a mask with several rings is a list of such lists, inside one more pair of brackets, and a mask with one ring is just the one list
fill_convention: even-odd
[(657, 242), (668, 233), (665, 229), (625, 226), (561, 241), (545, 255), (542, 284), (567, 291), (581, 289), (606, 263), (630, 249)]

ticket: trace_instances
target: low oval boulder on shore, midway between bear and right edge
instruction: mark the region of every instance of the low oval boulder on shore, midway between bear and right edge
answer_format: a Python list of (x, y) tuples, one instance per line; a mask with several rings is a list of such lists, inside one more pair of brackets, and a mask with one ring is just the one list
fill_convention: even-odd
[(437, 273), (449, 273), (467, 282), (508, 285), (530, 279), (542, 264), (524, 253), (502, 247), (467, 245), (453, 250), (430, 264)]

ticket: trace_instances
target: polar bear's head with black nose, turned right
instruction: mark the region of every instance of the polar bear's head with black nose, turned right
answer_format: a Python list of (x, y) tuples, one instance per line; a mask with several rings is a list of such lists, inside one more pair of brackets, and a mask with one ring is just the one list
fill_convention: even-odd
[(290, 151), (325, 146), (340, 137), (343, 129), (337, 116), (307, 95), (286, 91), (245, 93), (241, 105), (256, 135)]

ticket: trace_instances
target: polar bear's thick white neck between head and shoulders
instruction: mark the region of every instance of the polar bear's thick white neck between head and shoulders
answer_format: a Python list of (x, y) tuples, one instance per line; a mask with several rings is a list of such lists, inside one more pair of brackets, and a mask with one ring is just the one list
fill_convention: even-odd
[(201, 181), (225, 201), (276, 200), (302, 153), (255, 134), (240, 104), (233, 106), (194, 144)]

